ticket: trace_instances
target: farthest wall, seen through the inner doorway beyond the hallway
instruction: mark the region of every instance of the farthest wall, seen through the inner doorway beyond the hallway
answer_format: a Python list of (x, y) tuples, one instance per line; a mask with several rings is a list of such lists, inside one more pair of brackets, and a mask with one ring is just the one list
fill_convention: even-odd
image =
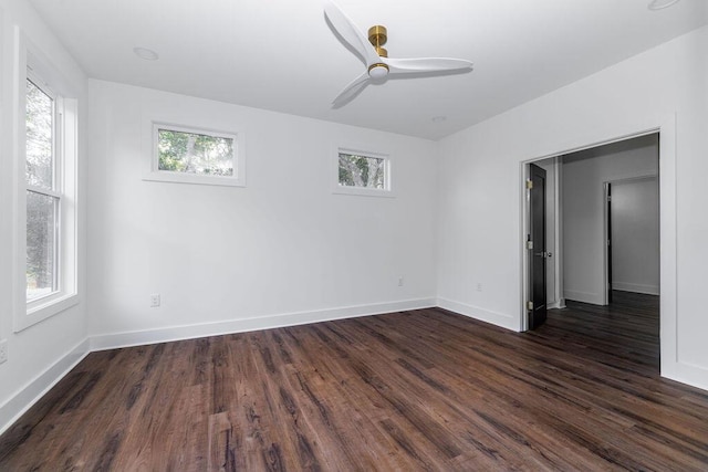
[(658, 295), (658, 180), (613, 182), (611, 213), (613, 289)]

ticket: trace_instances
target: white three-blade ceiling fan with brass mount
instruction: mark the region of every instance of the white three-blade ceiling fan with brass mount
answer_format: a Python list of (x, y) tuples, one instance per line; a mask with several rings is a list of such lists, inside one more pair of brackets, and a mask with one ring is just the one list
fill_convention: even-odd
[(346, 41), (366, 64), (366, 71), (354, 78), (332, 104), (342, 106), (358, 94), (371, 82), (382, 82), (388, 76), (404, 74), (436, 75), (446, 72), (469, 72), (472, 63), (462, 59), (448, 57), (416, 57), (393, 59), (383, 48), (386, 44), (387, 31), (385, 27), (375, 25), (368, 29), (368, 38), (331, 1), (326, 1), (324, 13), (332, 28)]

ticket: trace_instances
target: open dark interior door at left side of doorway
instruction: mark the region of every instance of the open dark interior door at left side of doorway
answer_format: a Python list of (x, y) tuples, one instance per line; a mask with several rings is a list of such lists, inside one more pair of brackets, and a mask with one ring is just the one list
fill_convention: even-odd
[(529, 271), (531, 304), (529, 306), (529, 329), (535, 329), (545, 322), (545, 170), (531, 164), (530, 168), (530, 228)]

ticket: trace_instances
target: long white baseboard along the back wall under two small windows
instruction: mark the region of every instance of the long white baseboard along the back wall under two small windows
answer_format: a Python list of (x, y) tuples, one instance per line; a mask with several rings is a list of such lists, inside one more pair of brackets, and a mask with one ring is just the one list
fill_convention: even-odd
[(418, 298), (400, 302), (345, 306), (341, 308), (317, 310), (312, 312), (287, 313), (257, 318), (231, 319), (187, 326), (170, 326), (166, 328), (139, 332), (94, 335), (91, 336), (91, 350), (105, 350), (118, 347), (166, 343), (170, 340), (194, 339), (205, 336), (271, 329), (357, 316), (404, 312), (407, 310), (430, 308), (434, 306), (436, 306), (436, 298)]

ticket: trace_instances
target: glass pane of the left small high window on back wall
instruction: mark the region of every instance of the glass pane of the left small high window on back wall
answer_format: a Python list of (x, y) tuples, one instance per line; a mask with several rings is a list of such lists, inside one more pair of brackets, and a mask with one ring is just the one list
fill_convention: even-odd
[(233, 176), (233, 139), (158, 129), (158, 170), (201, 176)]

